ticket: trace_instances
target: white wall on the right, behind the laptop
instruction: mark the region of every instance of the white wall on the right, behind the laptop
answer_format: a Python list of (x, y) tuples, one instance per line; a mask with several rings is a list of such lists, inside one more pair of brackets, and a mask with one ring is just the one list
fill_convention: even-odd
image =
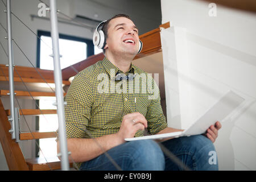
[[(214, 143), (219, 167), (255, 170), (256, 15), (217, 5), (217, 16), (210, 17), (208, 5), (161, 1), (162, 23), (174, 26), (162, 31), (167, 121), (185, 129), (222, 94), (234, 90), (245, 98), (245, 107), (222, 123)], [(187, 48), (178, 46), (175, 32)], [(180, 59), (180, 49), (187, 58)]]

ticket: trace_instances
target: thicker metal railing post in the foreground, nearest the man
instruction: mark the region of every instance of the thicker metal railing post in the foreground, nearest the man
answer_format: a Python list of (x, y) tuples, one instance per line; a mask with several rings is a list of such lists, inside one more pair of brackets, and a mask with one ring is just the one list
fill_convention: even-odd
[(65, 118), (64, 118), (64, 99), (62, 89), (62, 75), (60, 69), (60, 52), (59, 52), (59, 30), (57, 27), (57, 11), (56, 1), (50, 0), (51, 11), (51, 36), (52, 36), (52, 48), (53, 48), (53, 62), (54, 62), (54, 81), (55, 92), (57, 98), (57, 115), (59, 121), (59, 141), (61, 152), (61, 169), (64, 171), (69, 170), (68, 162), (68, 147), (65, 130)]

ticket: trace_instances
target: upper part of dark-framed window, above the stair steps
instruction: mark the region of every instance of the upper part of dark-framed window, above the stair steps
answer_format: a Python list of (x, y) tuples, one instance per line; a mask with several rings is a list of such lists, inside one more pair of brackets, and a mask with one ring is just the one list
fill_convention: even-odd
[[(53, 70), (52, 39), (51, 33), (47, 31), (38, 31), (38, 55), (37, 67), (41, 69)], [(86, 57), (94, 54), (94, 49), (98, 52), (98, 48), (94, 48), (92, 40), (77, 38), (69, 35), (59, 35), (60, 48), (60, 67), (61, 69), (76, 64)]]

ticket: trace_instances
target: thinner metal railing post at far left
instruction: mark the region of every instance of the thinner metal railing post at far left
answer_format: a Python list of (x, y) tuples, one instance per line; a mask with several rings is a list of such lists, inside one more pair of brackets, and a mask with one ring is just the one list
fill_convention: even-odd
[(6, 17), (7, 17), (7, 39), (8, 39), (8, 64), (9, 67), (9, 92), (10, 92), (10, 110), (11, 116), (11, 139), (16, 139), (15, 110), (14, 110), (14, 81), (13, 81), (13, 36), (11, 35), (11, 0), (6, 1)]

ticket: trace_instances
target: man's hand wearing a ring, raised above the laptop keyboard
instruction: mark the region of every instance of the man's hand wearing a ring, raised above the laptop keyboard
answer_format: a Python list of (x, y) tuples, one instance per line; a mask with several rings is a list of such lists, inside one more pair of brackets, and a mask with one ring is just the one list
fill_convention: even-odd
[(141, 113), (130, 113), (123, 117), (120, 130), (118, 131), (118, 137), (122, 138), (132, 138), (135, 133), (141, 129), (142, 131), (147, 127), (147, 120)]

